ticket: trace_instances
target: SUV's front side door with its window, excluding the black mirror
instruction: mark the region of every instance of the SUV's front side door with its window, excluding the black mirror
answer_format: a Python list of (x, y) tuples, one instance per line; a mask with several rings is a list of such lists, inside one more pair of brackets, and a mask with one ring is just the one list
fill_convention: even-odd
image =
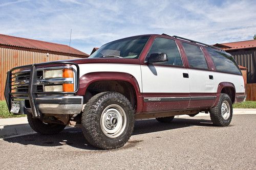
[(183, 110), (189, 103), (189, 78), (175, 40), (157, 37), (147, 58), (165, 53), (167, 62), (141, 65), (143, 112)]

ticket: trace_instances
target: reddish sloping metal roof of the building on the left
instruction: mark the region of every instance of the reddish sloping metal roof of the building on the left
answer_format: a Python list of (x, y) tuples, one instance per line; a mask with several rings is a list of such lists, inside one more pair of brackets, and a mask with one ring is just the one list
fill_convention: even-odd
[(34, 40), (34, 39), (28, 39), (28, 38), (14, 37), (14, 36), (4, 35), (4, 34), (0, 34), (0, 44), (14, 46), (14, 47), (29, 48), (29, 49), (34, 49), (34, 50), (42, 50), (42, 51), (49, 51), (49, 52), (79, 55), (81, 57), (89, 56), (88, 54), (83, 53), (79, 50), (76, 50), (75, 48), (70, 47), (68, 45)]

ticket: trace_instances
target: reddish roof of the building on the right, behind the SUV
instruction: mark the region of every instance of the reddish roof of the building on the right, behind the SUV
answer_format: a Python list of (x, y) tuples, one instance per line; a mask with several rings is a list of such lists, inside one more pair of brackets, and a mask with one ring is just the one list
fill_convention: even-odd
[[(224, 45), (224, 46), (221, 46)], [(214, 46), (219, 46), (223, 50), (237, 50), (243, 48), (254, 48), (256, 47), (256, 40), (247, 40), (247, 41), (238, 41), (238, 42), (228, 42), (228, 43), (221, 43), (215, 44)]]

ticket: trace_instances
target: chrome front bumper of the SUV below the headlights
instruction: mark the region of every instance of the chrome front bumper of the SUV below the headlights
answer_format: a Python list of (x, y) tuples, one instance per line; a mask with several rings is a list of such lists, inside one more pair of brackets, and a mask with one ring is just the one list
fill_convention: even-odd
[[(14, 98), (14, 101), (16, 100), (18, 99)], [(42, 114), (79, 114), (82, 111), (83, 97), (79, 95), (44, 96), (36, 98), (35, 101), (38, 110)], [(24, 99), (20, 103), (23, 103), (20, 106), (24, 105), (24, 109), (32, 113), (28, 99)], [(20, 114), (23, 113), (21, 112)]]

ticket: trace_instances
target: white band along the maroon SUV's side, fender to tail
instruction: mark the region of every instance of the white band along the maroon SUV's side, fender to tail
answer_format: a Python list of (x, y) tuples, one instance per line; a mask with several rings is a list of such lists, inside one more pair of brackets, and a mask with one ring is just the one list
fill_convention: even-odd
[[(233, 83), (236, 92), (245, 92), (242, 76), (195, 69), (134, 64), (79, 64), (80, 77), (89, 72), (125, 72), (135, 77), (143, 93), (213, 93), (221, 82)], [(183, 78), (187, 73), (189, 78)], [(214, 79), (210, 80), (209, 75)]]

